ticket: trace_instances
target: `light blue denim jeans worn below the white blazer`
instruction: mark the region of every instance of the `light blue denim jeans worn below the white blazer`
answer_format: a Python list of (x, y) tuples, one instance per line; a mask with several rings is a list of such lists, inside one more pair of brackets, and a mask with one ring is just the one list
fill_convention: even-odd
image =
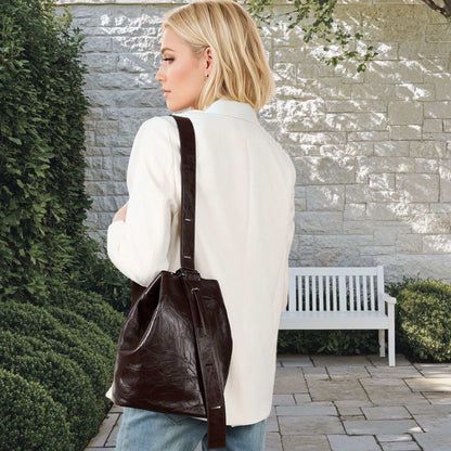
[[(266, 420), (227, 426), (223, 451), (262, 451)], [(194, 451), (207, 448), (207, 422), (191, 416), (124, 408), (116, 451)], [(219, 451), (219, 450), (218, 450)]]

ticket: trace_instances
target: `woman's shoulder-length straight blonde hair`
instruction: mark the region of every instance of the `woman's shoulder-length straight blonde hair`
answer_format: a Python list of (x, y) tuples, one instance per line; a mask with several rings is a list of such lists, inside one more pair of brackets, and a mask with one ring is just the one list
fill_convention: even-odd
[(233, 0), (204, 0), (184, 4), (163, 16), (196, 55), (208, 47), (212, 73), (197, 103), (204, 109), (218, 99), (263, 106), (274, 92), (274, 79), (257, 27), (246, 10)]

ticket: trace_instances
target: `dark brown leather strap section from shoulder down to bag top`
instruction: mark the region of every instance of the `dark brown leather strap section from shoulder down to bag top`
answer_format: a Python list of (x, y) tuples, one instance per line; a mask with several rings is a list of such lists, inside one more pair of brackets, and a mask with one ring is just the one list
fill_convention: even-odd
[(196, 142), (192, 121), (188, 117), (172, 115), (179, 128), (181, 153), (181, 245), (180, 265), (194, 268), (194, 231), (196, 205)]

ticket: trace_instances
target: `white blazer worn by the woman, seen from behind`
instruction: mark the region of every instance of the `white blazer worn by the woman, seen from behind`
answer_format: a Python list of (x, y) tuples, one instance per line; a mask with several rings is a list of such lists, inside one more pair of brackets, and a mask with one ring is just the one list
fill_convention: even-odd
[[(296, 171), (247, 103), (218, 100), (181, 115), (196, 138), (194, 265), (203, 278), (218, 280), (232, 330), (227, 424), (254, 424), (271, 411)], [(180, 268), (180, 140), (170, 116), (142, 124), (127, 184), (126, 221), (109, 226), (107, 253), (145, 286), (160, 270)]]

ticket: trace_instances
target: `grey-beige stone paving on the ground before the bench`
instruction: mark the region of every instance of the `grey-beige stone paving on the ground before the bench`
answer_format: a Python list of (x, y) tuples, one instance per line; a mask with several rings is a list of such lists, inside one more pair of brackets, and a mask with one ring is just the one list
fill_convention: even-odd
[[(120, 413), (86, 451), (114, 449)], [(266, 451), (451, 451), (451, 364), (279, 356)]]

